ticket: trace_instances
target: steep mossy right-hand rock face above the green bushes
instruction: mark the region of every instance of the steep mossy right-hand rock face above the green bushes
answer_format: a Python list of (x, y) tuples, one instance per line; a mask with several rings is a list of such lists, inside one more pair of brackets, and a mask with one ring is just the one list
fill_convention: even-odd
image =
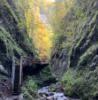
[[(76, 0), (74, 6), (62, 19), (61, 28), (64, 34), (72, 33), (72, 36), (66, 36), (65, 42), (66, 51), (58, 49), (63, 44), (62, 42), (56, 48), (56, 52), (52, 54), (53, 69), (66, 67), (80, 68), (93, 67), (98, 65), (98, 1), (97, 0)], [(70, 41), (68, 41), (70, 40)], [(70, 46), (68, 46), (70, 45)], [(54, 51), (54, 50), (53, 50)], [(65, 56), (59, 59), (59, 56)], [(57, 56), (55, 56), (57, 55)], [(66, 60), (67, 59), (67, 60)], [(54, 60), (56, 63), (54, 63)], [(63, 62), (61, 63), (61, 61)], [(63, 63), (64, 64), (63, 66)], [(61, 64), (60, 64), (61, 63)], [(54, 72), (56, 70), (54, 69)]]

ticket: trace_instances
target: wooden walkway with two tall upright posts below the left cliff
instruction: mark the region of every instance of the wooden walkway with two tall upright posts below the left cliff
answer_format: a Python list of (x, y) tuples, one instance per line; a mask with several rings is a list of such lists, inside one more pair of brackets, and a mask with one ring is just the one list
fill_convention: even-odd
[[(21, 57), (20, 60), (15, 57), (12, 58), (12, 75), (11, 75), (11, 84), (12, 84), (12, 95), (21, 94), (21, 86), (23, 83), (23, 68), (28, 65), (33, 64), (48, 64), (48, 61), (40, 61), (31, 57)], [(17, 97), (16, 96), (16, 97)], [(20, 100), (20, 99), (13, 99)]]

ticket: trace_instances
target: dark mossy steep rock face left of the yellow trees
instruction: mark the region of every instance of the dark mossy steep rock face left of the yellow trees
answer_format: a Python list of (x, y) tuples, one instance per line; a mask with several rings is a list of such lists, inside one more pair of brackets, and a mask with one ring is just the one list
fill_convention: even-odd
[(0, 64), (10, 70), (12, 56), (32, 55), (22, 10), (15, 0), (0, 0)]

